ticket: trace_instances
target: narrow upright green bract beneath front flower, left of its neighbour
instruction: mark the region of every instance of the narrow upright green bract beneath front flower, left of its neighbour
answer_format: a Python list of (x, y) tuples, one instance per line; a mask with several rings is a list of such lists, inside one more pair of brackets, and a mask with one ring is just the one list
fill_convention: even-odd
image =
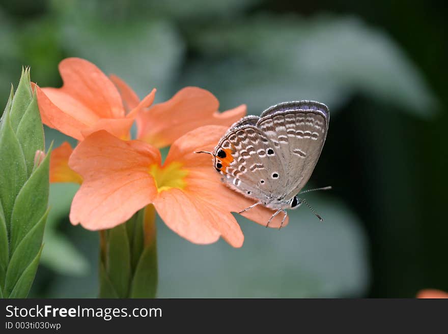
[(127, 297), (131, 280), (131, 254), (125, 224), (108, 230), (105, 268), (118, 295)]

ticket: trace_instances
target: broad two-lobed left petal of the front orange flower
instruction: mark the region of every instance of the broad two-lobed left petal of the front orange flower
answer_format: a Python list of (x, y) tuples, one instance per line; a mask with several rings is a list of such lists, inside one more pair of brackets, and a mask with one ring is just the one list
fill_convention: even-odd
[(123, 141), (106, 131), (83, 140), (69, 166), (83, 177), (73, 198), (70, 221), (90, 230), (112, 228), (128, 220), (157, 194), (148, 168), (160, 164), (160, 152), (141, 141)]

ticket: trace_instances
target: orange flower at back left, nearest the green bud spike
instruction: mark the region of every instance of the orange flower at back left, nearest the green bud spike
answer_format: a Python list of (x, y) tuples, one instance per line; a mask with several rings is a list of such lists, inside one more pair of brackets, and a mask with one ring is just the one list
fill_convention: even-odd
[(78, 140), (98, 130), (129, 139), (137, 112), (154, 101), (155, 89), (126, 114), (116, 86), (92, 63), (67, 58), (59, 64), (59, 72), (61, 88), (36, 85), (42, 122)]

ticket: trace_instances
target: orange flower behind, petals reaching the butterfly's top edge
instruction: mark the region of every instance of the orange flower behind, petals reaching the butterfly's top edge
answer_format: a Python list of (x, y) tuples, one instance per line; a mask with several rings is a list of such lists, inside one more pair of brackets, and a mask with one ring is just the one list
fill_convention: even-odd
[[(135, 92), (119, 77), (111, 75), (110, 79), (119, 89), (126, 107), (135, 108), (139, 103)], [(208, 90), (182, 88), (170, 100), (137, 114), (137, 138), (160, 148), (201, 126), (231, 126), (246, 113), (244, 104), (221, 113), (218, 107), (218, 100)]]

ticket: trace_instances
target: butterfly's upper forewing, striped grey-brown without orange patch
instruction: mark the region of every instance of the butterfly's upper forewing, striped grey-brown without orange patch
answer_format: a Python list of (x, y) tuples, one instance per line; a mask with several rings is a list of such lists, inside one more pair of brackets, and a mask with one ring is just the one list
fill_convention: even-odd
[(289, 172), (285, 199), (295, 196), (309, 180), (325, 142), (328, 121), (328, 107), (314, 101), (285, 102), (261, 114), (257, 128), (273, 142)]

